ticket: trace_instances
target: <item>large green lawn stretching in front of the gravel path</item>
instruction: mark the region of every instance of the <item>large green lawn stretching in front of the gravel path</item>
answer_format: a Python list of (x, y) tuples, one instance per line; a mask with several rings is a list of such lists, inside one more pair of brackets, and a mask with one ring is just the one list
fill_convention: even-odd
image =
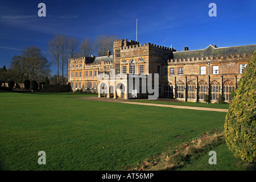
[(226, 113), (72, 98), (81, 96), (97, 94), (0, 92), (0, 168), (123, 170), (224, 127)]

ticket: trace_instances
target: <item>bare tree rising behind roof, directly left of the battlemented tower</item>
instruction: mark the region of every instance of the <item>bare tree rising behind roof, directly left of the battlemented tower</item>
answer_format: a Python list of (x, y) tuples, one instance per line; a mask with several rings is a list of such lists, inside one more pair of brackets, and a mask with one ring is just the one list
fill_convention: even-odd
[(108, 55), (108, 51), (113, 52), (113, 42), (119, 39), (117, 35), (99, 35), (94, 42), (94, 51), (98, 56)]

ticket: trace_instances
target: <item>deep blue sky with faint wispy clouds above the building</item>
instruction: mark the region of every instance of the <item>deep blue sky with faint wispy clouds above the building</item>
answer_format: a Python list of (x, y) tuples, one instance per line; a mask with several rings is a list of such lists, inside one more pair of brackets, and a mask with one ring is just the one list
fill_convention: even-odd
[[(38, 4), (46, 4), (46, 17), (38, 16)], [(217, 16), (208, 7), (216, 3)], [(0, 1), (0, 67), (10, 66), (14, 55), (28, 46), (43, 52), (55, 34), (101, 34), (153, 43), (177, 51), (256, 44), (256, 1)], [(52, 68), (55, 74), (55, 68)]]

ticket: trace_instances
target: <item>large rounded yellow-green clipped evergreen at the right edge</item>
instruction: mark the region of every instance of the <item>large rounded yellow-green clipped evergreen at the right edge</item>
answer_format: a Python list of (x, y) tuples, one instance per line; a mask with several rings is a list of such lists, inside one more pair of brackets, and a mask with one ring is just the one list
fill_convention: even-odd
[(256, 51), (238, 82), (225, 119), (225, 139), (234, 156), (256, 162)]

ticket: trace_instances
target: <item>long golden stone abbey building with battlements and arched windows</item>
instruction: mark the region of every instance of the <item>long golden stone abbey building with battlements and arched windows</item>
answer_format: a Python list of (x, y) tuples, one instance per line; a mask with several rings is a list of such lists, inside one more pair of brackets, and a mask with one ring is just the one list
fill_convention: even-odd
[[(98, 97), (147, 98), (142, 80), (158, 73), (159, 97), (180, 101), (203, 102), (207, 94), (216, 102), (220, 94), (226, 102), (238, 86), (242, 72), (256, 44), (235, 47), (210, 45), (205, 49), (176, 51), (151, 43), (139, 44), (127, 39), (115, 40), (113, 55), (69, 59), (69, 82), (72, 90), (97, 92)], [(105, 76), (102, 76), (104, 73)], [(138, 78), (131, 83), (128, 75)], [(113, 79), (114, 78), (114, 79)], [(130, 82), (129, 82), (130, 81)], [(145, 85), (144, 85), (145, 88)], [(129, 90), (130, 89), (130, 90)]]

